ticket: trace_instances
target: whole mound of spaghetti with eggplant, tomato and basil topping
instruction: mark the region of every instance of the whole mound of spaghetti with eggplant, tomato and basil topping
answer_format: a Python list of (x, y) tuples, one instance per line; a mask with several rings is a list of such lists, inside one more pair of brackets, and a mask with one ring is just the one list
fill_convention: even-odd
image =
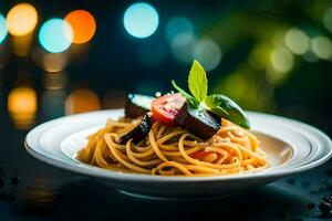
[(269, 160), (248, 129), (245, 112), (229, 97), (208, 95), (203, 66), (194, 61), (191, 94), (129, 94), (125, 116), (108, 119), (77, 152), (82, 162), (124, 172), (216, 176), (260, 171)]

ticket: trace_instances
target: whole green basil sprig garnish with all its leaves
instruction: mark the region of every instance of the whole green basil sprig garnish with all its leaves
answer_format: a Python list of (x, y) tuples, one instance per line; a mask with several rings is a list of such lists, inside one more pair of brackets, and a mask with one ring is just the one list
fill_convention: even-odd
[(241, 127), (250, 128), (245, 112), (237, 103), (221, 94), (207, 95), (208, 80), (204, 67), (198, 61), (194, 61), (188, 76), (188, 87), (191, 95), (181, 90), (175, 81), (172, 81), (172, 84), (174, 88), (187, 98), (194, 108), (209, 109), (214, 114), (229, 119)]

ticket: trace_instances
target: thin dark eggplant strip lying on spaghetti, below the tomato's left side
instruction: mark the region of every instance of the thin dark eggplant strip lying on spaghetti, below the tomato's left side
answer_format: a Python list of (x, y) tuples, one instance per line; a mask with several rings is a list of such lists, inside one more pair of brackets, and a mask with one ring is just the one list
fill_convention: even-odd
[(134, 144), (138, 144), (148, 135), (152, 125), (153, 123), (149, 118), (149, 115), (145, 114), (142, 122), (133, 130), (128, 131), (120, 138), (120, 144), (125, 145), (129, 139), (133, 139)]

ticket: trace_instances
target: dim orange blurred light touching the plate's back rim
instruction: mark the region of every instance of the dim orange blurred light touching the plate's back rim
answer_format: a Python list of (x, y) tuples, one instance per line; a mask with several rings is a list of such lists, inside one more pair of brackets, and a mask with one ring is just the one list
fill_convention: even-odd
[(65, 99), (65, 114), (77, 114), (101, 108), (98, 96), (89, 88), (73, 91)]

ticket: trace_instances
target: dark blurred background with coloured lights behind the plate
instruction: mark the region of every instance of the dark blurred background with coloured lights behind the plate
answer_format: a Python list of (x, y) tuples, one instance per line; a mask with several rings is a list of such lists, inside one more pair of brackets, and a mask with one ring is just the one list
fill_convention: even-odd
[(1, 1), (0, 133), (122, 107), (126, 92), (209, 92), (332, 135), (332, 1)]

